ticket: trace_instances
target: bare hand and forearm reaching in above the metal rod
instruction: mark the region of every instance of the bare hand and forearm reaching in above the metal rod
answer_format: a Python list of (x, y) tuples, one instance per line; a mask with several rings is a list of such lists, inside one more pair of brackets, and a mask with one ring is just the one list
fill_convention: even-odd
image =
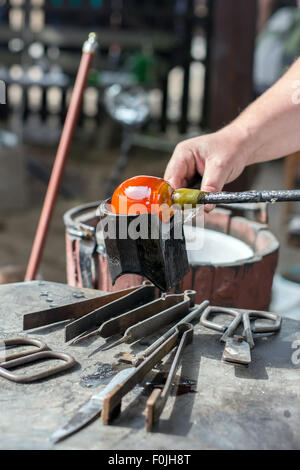
[[(217, 192), (234, 181), (247, 165), (281, 158), (297, 150), (300, 150), (300, 58), (229, 125), (180, 142), (164, 178), (177, 189), (187, 187), (199, 173), (203, 176), (201, 189)], [(206, 210), (212, 208), (207, 206)]]

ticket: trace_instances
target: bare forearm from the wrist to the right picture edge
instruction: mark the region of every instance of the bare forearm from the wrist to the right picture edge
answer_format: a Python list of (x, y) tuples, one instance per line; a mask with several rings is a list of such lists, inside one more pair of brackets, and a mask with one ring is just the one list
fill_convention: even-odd
[(300, 59), (227, 131), (240, 134), (247, 165), (300, 150)]

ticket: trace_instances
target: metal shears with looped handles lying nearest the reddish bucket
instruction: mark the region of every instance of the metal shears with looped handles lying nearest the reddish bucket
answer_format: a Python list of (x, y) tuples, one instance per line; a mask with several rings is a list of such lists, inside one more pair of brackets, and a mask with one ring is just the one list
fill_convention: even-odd
[[(225, 314), (233, 317), (229, 325), (209, 320), (211, 314)], [(255, 320), (251, 325), (251, 320)], [(259, 320), (266, 320), (260, 321)], [(243, 323), (242, 335), (235, 334)], [(275, 333), (281, 327), (281, 316), (260, 310), (245, 310), (226, 307), (208, 306), (200, 319), (200, 324), (222, 333), (220, 341), (225, 343), (222, 359), (225, 362), (250, 364), (254, 347), (253, 333)]]

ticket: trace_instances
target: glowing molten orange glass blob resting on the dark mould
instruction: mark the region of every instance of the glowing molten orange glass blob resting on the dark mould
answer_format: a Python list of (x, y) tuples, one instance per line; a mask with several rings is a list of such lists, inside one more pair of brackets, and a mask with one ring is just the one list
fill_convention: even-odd
[[(163, 178), (134, 176), (121, 183), (115, 190), (111, 206), (117, 214), (160, 214), (172, 205), (174, 189)], [(164, 218), (164, 217), (163, 217)]]

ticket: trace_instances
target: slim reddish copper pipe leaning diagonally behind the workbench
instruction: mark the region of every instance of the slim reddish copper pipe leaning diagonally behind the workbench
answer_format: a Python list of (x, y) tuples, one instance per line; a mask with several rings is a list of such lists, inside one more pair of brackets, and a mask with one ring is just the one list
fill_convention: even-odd
[(40, 215), (40, 220), (35, 234), (35, 239), (30, 253), (28, 266), (25, 274), (25, 281), (35, 279), (37, 269), (39, 267), (51, 216), (55, 206), (58, 190), (63, 177), (67, 156), (70, 150), (72, 137), (78, 120), (83, 91), (86, 85), (88, 72), (97, 48), (96, 36), (90, 33), (89, 39), (84, 43), (82, 48), (82, 57), (77, 72), (73, 93), (68, 108), (65, 124), (58, 145), (51, 177), (49, 180), (44, 205)]

